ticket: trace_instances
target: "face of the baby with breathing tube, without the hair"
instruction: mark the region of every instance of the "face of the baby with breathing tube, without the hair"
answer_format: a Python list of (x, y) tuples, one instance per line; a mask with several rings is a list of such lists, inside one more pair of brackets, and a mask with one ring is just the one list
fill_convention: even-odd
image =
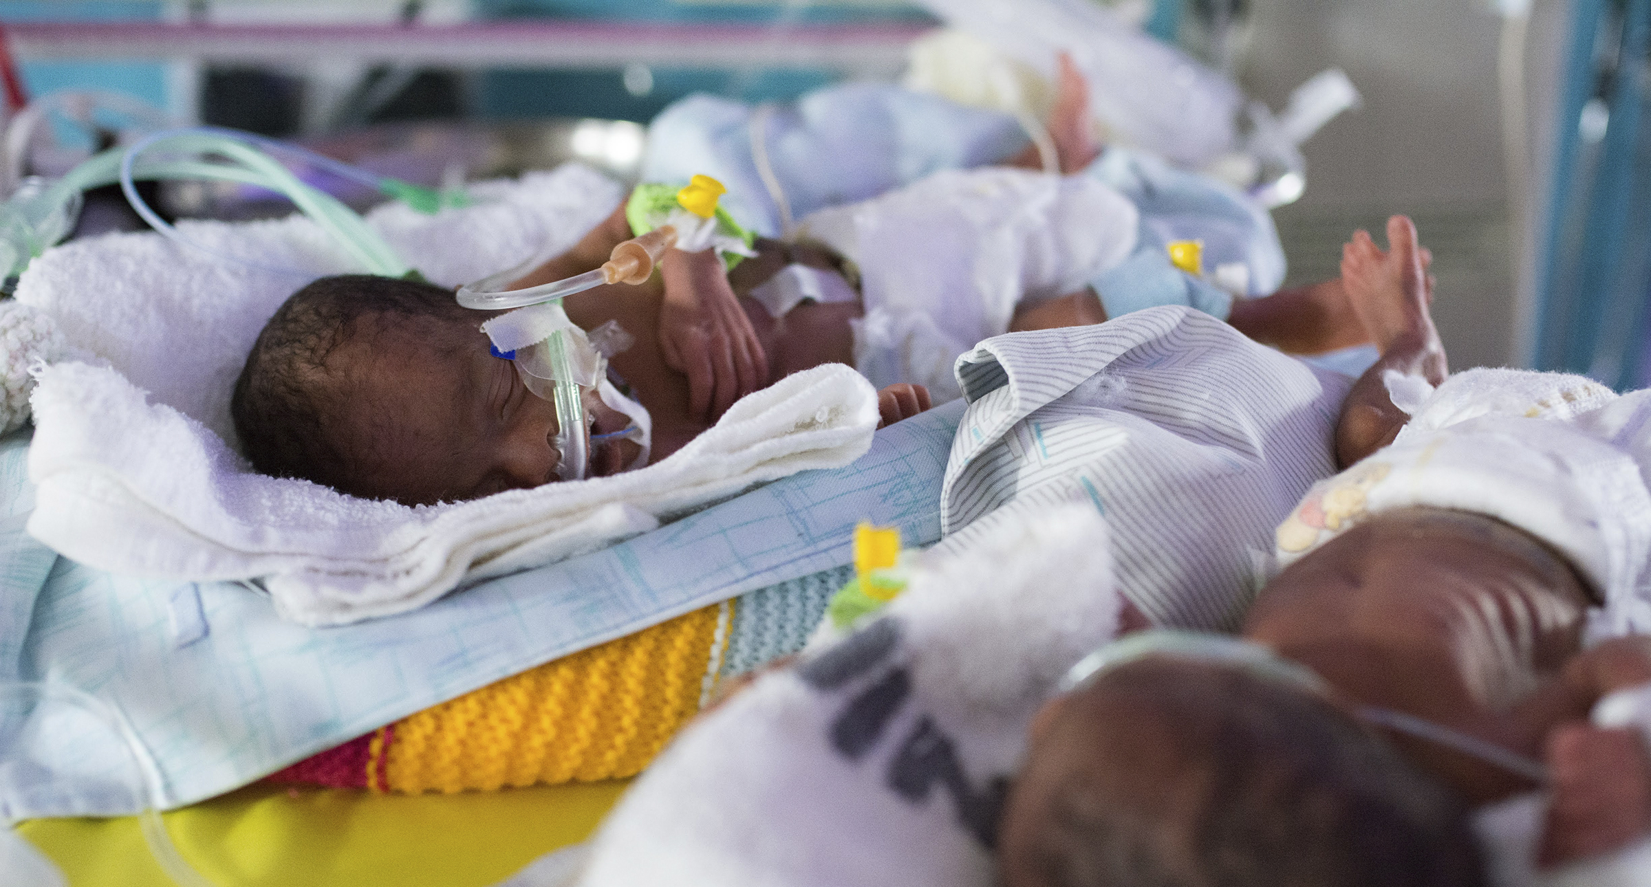
[[(433, 505), (558, 480), (555, 406), (487, 345), (474, 326), (391, 318), (362, 323), (329, 354), (345, 379), (338, 434), (365, 467), (352, 493)], [(598, 432), (627, 422), (601, 406), (591, 412)], [(636, 452), (626, 440), (593, 447), (591, 475), (622, 470)]]

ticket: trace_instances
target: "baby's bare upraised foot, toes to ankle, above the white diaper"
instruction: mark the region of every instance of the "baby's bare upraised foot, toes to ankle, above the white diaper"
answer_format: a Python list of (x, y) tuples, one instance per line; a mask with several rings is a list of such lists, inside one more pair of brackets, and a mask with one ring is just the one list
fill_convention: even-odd
[(1423, 262), (1431, 254), (1417, 242), (1417, 226), (1405, 216), (1387, 219), (1387, 244), (1384, 251), (1367, 231), (1355, 231), (1342, 247), (1349, 303), (1384, 353), (1407, 335), (1436, 338), (1428, 315), (1431, 277)]

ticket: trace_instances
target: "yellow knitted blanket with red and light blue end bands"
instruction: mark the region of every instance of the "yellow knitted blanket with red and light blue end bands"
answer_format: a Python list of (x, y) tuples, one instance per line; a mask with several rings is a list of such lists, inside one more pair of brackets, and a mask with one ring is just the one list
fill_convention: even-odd
[(627, 778), (717, 684), (802, 650), (844, 566), (507, 678), (305, 758), (271, 781), (466, 791)]

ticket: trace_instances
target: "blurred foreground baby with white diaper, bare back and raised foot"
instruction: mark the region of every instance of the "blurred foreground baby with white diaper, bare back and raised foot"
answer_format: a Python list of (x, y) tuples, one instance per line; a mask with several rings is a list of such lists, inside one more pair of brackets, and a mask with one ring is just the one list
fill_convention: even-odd
[[(1359, 795), (1327, 798), (1324, 773), (1387, 749), (1407, 763), (1384, 778), (1436, 821), (1494, 805), (1486, 872), (1418, 838), (1384, 851), (1412, 867), (1395, 882), (1433, 880), (1415, 866), (1459, 884), (1537, 884), (1540, 869), (1595, 882), (1601, 866), (1630, 877), (1601, 884), (1648, 877), (1651, 392), (1521, 371), (1445, 379), (1412, 232), (1395, 221), (1390, 237), (1385, 254), (1352, 244), (1342, 267), (1349, 289), (1388, 293), (1355, 298), (1387, 307), (1388, 345), (1344, 412), (1351, 468), (1280, 526), (1286, 569), (1245, 620), (1245, 661), (1159, 650), (1047, 707), (1004, 823), (1009, 884), (1111, 884), (1095, 872), (1142, 857), (1218, 871), (1222, 857), (1189, 856), (1210, 829), (1225, 829), (1227, 861), (1260, 859), (1286, 831), (1354, 814)], [(1507, 805), (1527, 793), (1521, 834)], [(1222, 805), (1255, 795), (1271, 813), (1222, 824)], [(1136, 838), (1119, 849), (1116, 829)]]

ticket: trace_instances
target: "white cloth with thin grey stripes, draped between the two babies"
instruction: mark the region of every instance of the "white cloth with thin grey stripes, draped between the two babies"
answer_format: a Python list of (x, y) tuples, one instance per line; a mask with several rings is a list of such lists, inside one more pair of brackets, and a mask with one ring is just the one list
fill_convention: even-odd
[(1010, 333), (958, 361), (969, 409), (944, 547), (1062, 501), (1106, 516), (1123, 594), (1156, 625), (1235, 630), (1273, 528), (1334, 473), (1351, 379), (1184, 307)]

